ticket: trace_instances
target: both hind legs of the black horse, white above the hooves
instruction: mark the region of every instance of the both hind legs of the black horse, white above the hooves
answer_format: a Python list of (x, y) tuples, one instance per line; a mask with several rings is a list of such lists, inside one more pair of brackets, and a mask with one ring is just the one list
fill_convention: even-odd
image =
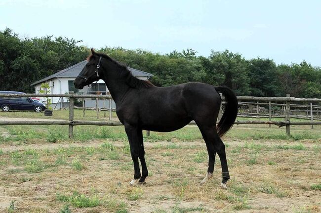
[(214, 162), (215, 162), (215, 152), (218, 154), (221, 160), (222, 166), (222, 183), (221, 187), (227, 188), (226, 183), (230, 179), (229, 169), (227, 166), (226, 154), (225, 154), (225, 145), (222, 142), (221, 138), (217, 134), (215, 126), (201, 126), (198, 125), (204, 141), (206, 143), (207, 152), (208, 152), (208, 169), (205, 178), (201, 183), (205, 183), (213, 175)]

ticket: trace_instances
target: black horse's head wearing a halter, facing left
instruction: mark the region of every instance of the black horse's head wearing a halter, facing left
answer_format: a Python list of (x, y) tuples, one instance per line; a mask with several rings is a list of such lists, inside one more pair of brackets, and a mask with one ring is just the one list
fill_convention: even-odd
[(99, 76), (102, 75), (100, 71), (101, 59), (102, 57), (97, 55), (97, 53), (91, 48), (91, 55), (87, 58), (88, 63), (81, 70), (80, 74), (75, 79), (75, 87), (82, 89), (85, 85), (90, 85), (91, 83), (101, 79)]

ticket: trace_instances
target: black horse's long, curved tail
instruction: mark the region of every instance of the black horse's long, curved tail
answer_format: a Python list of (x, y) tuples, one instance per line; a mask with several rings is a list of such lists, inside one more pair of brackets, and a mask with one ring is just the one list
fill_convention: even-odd
[(238, 99), (234, 92), (227, 86), (215, 86), (215, 89), (222, 92), (225, 101), (227, 101), (224, 114), (216, 126), (218, 135), (222, 137), (230, 128), (232, 128), (238, 115)]

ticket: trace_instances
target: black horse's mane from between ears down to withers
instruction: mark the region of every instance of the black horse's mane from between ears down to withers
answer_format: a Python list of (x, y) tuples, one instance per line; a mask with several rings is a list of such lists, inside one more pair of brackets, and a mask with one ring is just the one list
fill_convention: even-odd
[[(130, 87), (133, 88), (149, 88), (149, 87), (154, 87), (155, 85), (153, 85), (150, 81), (146, 80), (140, 80), (137, 79), (136, 77), (134, 77), (131, 72), (128, 70), (127, 66), (124, 64), (121, 64), (120, 62), (114, 60), (113, 58), (109, 57), (108, 55), (104, 54), (104, 53), (97, 53), (95, 52), (95, 55), (101, 56), (105, 59), (107, 59), (108, 61), (112, 62), (113, 64), (115, 64), (116, 66), (118, 66), (121, 70), (120, 72), (120, 78), (125, 80), (125, 83), (127, 85), (129, 85)], [(93, 58), (93, 55), (89, 55), (87, 57), (87, 61), (90, 61), (90, 59)]]

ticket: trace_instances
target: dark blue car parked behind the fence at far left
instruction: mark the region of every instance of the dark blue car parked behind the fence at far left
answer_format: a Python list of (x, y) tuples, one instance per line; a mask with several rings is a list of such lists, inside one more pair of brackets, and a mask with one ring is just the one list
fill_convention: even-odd
[[(25, 94), (24, 92), (0, 91), (0, 94)], [(3, 112), (9, 110), (33, 110), (41, 112), (46, 107), (43, 103), (34, 101), (29, 97), (0, 97), (0, 107)]]

